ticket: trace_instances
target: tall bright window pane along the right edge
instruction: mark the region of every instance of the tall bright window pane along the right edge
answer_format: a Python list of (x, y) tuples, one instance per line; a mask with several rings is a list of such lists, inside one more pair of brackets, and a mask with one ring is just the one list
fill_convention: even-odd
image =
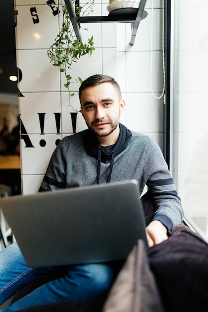
[(172, 171), (185, 221), (208, 240), (208, 1), (172, 3)]

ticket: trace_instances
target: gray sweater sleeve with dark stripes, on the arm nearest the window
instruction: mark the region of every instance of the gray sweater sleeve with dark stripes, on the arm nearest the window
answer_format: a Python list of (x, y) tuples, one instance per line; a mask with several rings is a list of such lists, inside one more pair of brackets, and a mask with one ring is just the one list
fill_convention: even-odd
[(152, 138), (147, 142), (145, 156), (148, 192), (156, 206), (153, 220), (161, 221), (168, 230), (171, 230), (173, 226), (183, 221), (181, 199), (162, 151)]

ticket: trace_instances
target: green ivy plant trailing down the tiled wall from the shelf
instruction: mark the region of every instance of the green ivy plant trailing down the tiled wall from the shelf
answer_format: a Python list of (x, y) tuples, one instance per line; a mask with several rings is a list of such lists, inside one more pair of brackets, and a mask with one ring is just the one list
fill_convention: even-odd
[[(75, 6), (75, 0), (72, 0)], [(76, 6), (76, 12), (80, 15), (87, 16), (90, 12), (93, 12), (94, 0), (90, 0), (83, 5)], [(60, 72), (65, 74), (64, 86), (69, 92), (69, 106), (72, 107), (70, 98), (74, 96), (74, 93), (70, 92), (70, 84), (82, 82), (80, 77), (71, 77), (70, 70), (73, 62), (77, 62), (81, 56), (86, 54), (91, 55), (92, 51), (95, 50), (93, 36), (88, 39), (87, 43), (83, 43), (77, 39), (73, 26), (71, 24), (71, 18), (69, 16), (66, 5), (62, 5), (63, 12), (63, 23), (59, 34), (55, 38), (55, 42), (47, 50), (47, 54), (50, 58), (50, 62), (54, 66), (58, 66)], [(82, 28), (87, 30), (87, 28)], [(78, 112), (79, 109), (72, 109)]]

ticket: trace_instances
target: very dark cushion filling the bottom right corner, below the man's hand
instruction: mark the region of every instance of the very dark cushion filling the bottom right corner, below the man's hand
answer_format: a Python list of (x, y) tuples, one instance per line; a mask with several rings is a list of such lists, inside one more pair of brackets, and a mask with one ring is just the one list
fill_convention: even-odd
[(183, 223), (147, 249), (167, 312), (204, 312), (208, 304), (208, 244)]

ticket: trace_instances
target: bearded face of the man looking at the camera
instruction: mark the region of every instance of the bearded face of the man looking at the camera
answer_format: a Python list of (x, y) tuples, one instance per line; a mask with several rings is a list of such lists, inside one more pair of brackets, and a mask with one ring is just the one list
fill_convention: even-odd
[(97, 137), (107, 137), (118, 129), (125, 103), (109, 82), (88, 87), (81, 93), (81, 113)]

